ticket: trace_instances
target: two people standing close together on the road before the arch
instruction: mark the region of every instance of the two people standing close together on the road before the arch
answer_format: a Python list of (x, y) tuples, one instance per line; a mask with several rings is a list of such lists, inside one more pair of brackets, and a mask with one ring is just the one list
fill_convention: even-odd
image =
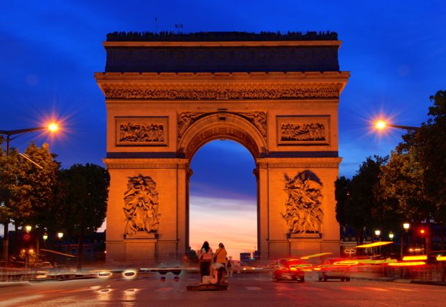
[[(226, 249), (224, 249), (224, 245), (222, 243), (218, 244), (218, 249), (215, 250), (215, 253), (213, 253), (208, 241), (204, 241), (199, 254), (201, 280), (203, 280), (203, 276), (214, 276), (216, 274), (217, 282), (220, 283), (223, 278), (224, 271), (226, 270), (227, 255), (228, 253), (226, 253)], [(212, 272), (211, 264), (213, 264)], [(213, 274), (211, 275), (211, 273)]]

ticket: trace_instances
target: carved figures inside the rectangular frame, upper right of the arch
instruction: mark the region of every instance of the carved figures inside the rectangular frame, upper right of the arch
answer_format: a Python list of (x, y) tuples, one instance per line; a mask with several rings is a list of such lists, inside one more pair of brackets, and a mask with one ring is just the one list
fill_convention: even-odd
[(280, 127), (281, 141), (324, 141), (325, 126), (323, 123), (282, 123)]

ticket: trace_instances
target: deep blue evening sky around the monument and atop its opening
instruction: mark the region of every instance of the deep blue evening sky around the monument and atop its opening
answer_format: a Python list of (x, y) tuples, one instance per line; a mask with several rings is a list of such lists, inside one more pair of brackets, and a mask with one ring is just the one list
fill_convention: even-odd
[[(444, 1), (3, 1), (0, 14), (0, 130), (38, 126), (52, 114), (66, 133), (50, 147), (63, 167), (102, 165), (105, 99), (93, 73), (104, 71), (102, 41), (113, 31), (336, 31), (341, 70), (351, 78), (339, 105), (340, 174), (367, 156), (390, 153), (402, 131), (378, 137), (369, 120), (426, 121), (429, 96), (446, 89)], [(13, 141), (24, 149), (30, 133)], [(202, 147), (192, 160), (191, 199), (252, 200), (254, 160), (231, 141)], [(237, 170), (237, 172), (233, 172)], [(255, 232), (254, 232), (255, 233)]]

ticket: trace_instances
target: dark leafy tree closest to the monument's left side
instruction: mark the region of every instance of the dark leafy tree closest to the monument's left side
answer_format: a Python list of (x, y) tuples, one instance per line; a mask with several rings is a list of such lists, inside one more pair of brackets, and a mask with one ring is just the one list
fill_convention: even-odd
[(79, 239), (80, 268), (84, 236), (98, 230), (105, 220), (110, 177), (104, 167), (87, 163), (62, 170), (59, 181), (59, 215), (63, 229)]

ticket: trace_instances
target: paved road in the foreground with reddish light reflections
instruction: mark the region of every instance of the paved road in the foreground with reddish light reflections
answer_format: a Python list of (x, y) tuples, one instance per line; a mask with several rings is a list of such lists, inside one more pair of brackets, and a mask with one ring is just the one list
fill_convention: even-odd
[(446, 306), (446, 288), (410, 283), (352, 280), (275, 283), (268, 274), (236, 274), (229, 290), (195, 292), (186, 285), (198, 274), (147, 274), (125, 280), (97, 278), (51, 281), (0, 288), (0, 306)]

